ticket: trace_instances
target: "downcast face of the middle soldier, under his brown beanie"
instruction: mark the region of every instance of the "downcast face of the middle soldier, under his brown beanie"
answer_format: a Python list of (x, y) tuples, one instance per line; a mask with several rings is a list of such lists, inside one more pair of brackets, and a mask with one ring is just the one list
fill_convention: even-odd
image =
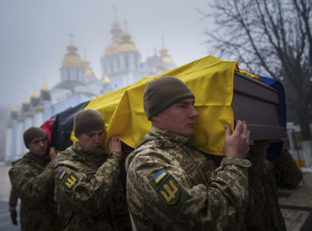
[(104, 139), (104, 130), (95, 130), (76, 136), (79, 144), (87, 149), (97, 149), (101, 147)]

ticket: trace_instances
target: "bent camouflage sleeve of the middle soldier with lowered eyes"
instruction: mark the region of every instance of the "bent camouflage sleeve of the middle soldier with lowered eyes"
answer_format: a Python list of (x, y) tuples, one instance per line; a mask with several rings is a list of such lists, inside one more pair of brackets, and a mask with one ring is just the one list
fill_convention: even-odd
[[(91, 180), (87, 180), (85, 173), (75, 170), (72, 164), (69, 164), (70, 161), (56, 161), (53, 177), (57, 191), (60, 192), (58, 197), (62, 197), (60, 199), (67, 208), (72, 208), (76, 212), (83, 211), (87, 214), (103, 212), (111, 202), (119, 184), (120, 160), (120, 153), (112, 152)], [(60, 179), (63, 170), (67, 173)]]

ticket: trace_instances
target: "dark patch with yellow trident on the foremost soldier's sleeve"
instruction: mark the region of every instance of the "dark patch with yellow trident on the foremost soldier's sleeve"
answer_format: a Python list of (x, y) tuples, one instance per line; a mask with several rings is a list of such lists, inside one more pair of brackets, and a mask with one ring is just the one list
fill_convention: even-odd
[(178, 182), (170, 175), (157, 190), (157, 194), (166, 204), (175, 204), (180, 195)]

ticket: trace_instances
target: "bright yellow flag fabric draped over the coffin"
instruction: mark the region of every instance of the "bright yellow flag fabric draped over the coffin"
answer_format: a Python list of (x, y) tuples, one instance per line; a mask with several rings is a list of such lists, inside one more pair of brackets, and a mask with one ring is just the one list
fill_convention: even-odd
[[(240, 71), (237, 62), (207, 56), (99, 96), (91, 100), (84, 109), (91, 108), (102, 113), (106, 129), (106, 152), (109, 151), (109, 138), (113, 135), (134, 148), (149, 133), (151, 127), (143, 110), (146, 85), (161, 76), (174, 76), (185, 82), (195, 95), (194, 107), (199, 116), (194, 127), (196, 141), (192, 145), (203, 152), (224, 155), (224, 125), (229, 125), (232, 130), (234, 126), (231, 107), (234, 71)], [(71, 140), (77, 141), (73, 132)]]

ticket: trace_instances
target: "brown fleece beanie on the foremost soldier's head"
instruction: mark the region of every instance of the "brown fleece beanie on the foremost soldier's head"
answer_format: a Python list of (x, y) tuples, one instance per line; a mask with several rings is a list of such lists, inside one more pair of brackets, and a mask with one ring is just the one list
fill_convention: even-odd
[(193, 98), (186, 84), (173, 76), (163, 76), (146, 86), (143, 94), (143, 108), (148, 120), (178, 101)]

